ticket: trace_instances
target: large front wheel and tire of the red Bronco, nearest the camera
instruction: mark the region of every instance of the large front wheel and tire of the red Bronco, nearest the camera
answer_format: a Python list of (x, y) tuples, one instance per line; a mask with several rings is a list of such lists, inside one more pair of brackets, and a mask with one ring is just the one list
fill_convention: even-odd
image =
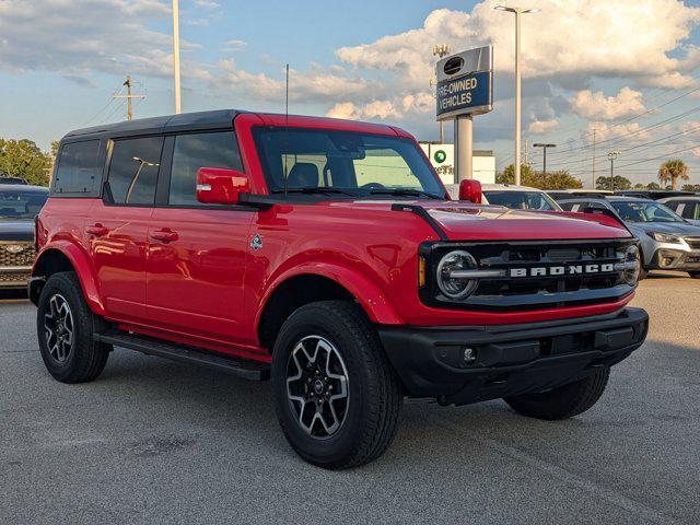
[(354, 467), (392, 443), (402, 387), (357, 305), (324, 301), (294, 312), (277, 338), (271, 377), (282, 431), (306, 462)]

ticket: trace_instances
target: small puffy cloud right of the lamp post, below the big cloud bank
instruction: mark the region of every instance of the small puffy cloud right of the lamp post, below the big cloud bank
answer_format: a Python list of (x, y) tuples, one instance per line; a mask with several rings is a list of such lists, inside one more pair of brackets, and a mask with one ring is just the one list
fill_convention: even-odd
[(571, 100), (571, 106), (576, 115), (590, 120), (618, 120), (646, 109), (642, 93), (627, 86), (615, 96), (605, 96), (600, 91), (580, 91)]

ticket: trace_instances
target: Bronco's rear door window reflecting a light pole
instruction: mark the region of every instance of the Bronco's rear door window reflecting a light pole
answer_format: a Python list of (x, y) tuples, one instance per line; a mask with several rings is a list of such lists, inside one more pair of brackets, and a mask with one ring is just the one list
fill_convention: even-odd
[(163, 137), (117, 140), (112, 150), (104, 199), (116, 205), (152, 205)]

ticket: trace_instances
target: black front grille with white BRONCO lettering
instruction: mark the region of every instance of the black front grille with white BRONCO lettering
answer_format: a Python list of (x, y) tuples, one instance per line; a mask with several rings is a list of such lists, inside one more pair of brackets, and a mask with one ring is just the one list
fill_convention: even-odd
[[(421, 300), (463, 310), (536, 310), (611, 302), (631, 292), (616, 265), (631, 240), (584, 242), (445, 243), (430, 246), (430, 281)], [(501, 277), (478, 280), (474, 293), (455, 302), (442, 295), (434, 279), (441, 258), (453, 249), (469, 252), (477, 270), (500, 270)], [(586, 271), (587, 269), (592, 271)], [(595, 271), (594, 271), (595, 270)]]

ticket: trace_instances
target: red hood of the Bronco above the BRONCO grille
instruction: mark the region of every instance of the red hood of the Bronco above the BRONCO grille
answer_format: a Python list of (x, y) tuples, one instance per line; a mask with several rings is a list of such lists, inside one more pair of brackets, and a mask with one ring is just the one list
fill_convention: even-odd
[(362, 208), (393, 203), (420, 206), (440, 225), (451, 241), (508, 240), (584, 240), (631, 237), (614, 219), (582, 213), (511, 210), (501, 206), (483, 206), (450, 201), (354, 201), (338, 203)]

